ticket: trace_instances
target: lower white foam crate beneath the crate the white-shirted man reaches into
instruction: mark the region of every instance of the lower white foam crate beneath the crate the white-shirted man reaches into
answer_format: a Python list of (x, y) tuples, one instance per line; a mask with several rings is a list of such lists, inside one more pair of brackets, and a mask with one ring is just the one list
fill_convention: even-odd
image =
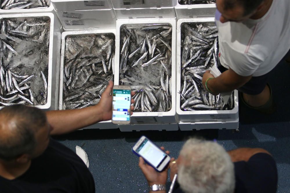
[(232, 121), (197, 121), (197, 122), (178, 122), (181, 131), (192, 131), (201, 129), (238, 129), (239, 118)]

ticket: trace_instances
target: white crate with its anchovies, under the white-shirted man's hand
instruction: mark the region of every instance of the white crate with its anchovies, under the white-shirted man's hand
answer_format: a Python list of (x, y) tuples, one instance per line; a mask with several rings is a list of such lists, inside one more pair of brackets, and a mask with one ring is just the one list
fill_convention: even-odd
[(218, 66), (218, 31), (214, 18), (179, 19), (177, 22), (177, 102), (179, 121), (226, 121), (238, 119), (238, 91), (229, 101), (202, 86), (209, 67)]

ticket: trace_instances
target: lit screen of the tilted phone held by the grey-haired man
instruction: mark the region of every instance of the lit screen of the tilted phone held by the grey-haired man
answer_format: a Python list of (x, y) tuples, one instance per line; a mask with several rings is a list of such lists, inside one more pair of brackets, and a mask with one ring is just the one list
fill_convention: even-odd
[(157, 168), (166, 158), (166, 154), (147, 139), (137, 148), (136, 152)]

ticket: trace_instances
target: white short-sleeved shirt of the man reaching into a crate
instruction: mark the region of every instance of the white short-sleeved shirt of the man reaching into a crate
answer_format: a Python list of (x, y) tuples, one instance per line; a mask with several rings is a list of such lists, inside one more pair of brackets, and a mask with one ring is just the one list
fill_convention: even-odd
[(260, 19), (242, 23), (219, 19), (217, 11), (220, 63), (241, 76), (267, 74), (290, 49), (290, 0), (273, 0)]

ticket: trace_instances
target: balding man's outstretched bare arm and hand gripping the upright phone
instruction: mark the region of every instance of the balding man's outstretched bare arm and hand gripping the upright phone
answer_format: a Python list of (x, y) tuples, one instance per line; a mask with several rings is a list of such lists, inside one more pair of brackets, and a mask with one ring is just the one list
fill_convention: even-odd
[[(46, 112), (48, 123), (52, 126), (51, 135), (70, 133), (77, 129), (92, 125), (100, 121), (110, 120), (112, 117), (113, 82), (110, 81), (103, 92), (101, 100), (95, 106), (72, 110), (53, 110)], [(131, 103), (134, 100), (131, 100)], [(133, 107), (131, 107), (131, 110)]]

